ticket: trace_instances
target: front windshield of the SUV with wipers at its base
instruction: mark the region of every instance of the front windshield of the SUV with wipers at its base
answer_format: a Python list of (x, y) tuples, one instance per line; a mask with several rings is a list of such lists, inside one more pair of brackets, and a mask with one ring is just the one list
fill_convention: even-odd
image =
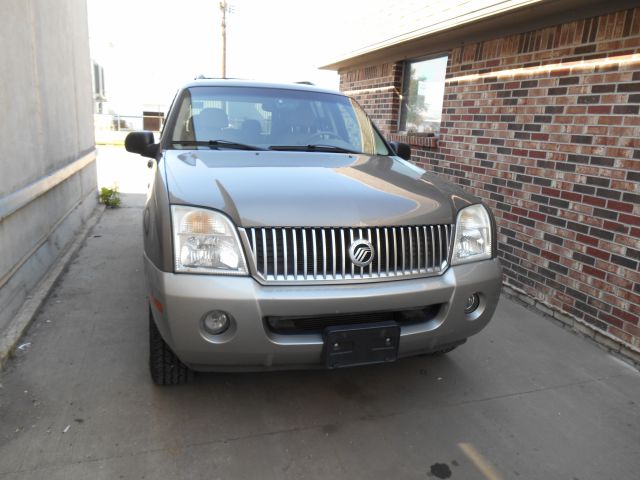
[(191, 87), (166, 132), (171, 147), (357, 152), (389, 155), (352, 99), (330, 93), (260, 87)]

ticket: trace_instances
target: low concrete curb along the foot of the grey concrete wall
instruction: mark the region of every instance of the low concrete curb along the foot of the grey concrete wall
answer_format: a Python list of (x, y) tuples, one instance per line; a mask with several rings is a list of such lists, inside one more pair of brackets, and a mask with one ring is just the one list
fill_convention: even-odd
[(22, 335), (26, 332), (40, 311), (40, 307), (49, 296), (58, 278), (65, 271), (71, 259), (76, 255), (80, 247), (84, 244), (87, 235), (95, 227), (104, 212), (104, 206), (98, 205), (95, 212), (87, 219), (84, 228), (78, 232), (76, 239), (69, 245), (64, 253), (56, 259), (51, 268), (42, 277), (38, 284), (16, 313), (11, 323), (0, 334), (0, 369), (3, 368), (7, 360), (11, 358), (14, 348)]

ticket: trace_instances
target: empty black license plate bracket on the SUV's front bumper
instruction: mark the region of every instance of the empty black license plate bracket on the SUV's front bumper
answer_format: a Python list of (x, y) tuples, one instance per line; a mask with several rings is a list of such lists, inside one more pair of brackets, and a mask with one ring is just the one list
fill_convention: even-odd
[(324, 331), (325, 366), (334, 369), (395, 362), (399, 344), (400, 326), (394, 321), (328, 327)]

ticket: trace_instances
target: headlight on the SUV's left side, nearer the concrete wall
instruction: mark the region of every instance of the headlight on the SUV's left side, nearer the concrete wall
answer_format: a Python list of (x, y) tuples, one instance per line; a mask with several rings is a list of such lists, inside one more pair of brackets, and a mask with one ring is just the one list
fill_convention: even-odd
[(171, 207), (176, 272), (246, 275), (240, 240), (231, 221), (202, 208)]

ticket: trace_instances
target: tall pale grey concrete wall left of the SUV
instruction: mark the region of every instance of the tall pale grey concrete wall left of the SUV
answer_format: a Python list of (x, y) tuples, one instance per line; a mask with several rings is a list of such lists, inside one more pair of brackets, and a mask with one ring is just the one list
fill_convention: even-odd
[(0, 335), (97, 206), (85, 0), (0, 2)]

